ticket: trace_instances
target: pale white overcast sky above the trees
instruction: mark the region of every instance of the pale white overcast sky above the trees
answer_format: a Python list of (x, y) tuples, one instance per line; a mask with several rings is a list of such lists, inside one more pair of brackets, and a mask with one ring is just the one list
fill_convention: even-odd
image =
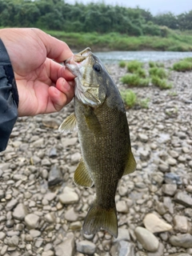
[(66, 0), (70, 4), (75, 2), (104, 2), (106, 5), (118, 5), (126, 7), (139, 6), (142, 9), (150, 10), (151, 14), (162, 14), (171, 12), (173, 14), (182, 14), (192, 10), (192, 0)]

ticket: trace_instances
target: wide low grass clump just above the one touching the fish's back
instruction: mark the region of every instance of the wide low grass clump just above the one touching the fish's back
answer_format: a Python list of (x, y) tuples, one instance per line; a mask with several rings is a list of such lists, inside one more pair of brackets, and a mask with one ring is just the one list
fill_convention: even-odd
[(138, 74), (126, 74), (121, 81), (129, 86), (149, 86), (150, 78), (140, 78)]

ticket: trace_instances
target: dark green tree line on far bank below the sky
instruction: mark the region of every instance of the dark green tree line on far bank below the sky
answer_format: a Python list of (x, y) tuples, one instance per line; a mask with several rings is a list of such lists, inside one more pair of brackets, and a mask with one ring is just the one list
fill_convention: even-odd
[(104, 2), (70, 5), (64, 0), (0, 0), (0, 26), (165, 37), (165, 26), (192, 30), (192, 10), (179, 15), (169, 12), (153, 16), (139, 7), (110, 6)]

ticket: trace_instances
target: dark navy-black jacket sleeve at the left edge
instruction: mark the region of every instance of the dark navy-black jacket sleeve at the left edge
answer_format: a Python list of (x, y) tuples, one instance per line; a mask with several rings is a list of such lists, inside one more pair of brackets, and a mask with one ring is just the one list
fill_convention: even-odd
[(0, 39), (0, 151), (6, 149), (18, 118), (18, 90), (9, 55)]

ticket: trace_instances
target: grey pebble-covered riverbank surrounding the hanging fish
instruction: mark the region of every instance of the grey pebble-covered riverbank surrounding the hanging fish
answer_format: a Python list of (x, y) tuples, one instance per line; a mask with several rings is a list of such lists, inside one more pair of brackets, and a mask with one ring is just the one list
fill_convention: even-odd
[[(173, 61), (164, 64), (168, 70)], [(125, 89), (126, 69), (107, 69)], [(58, 133), (73, 103), (57, 114), (18, 118), (0, 154), (2, 255), (192, 255), (192, 72), (171, 71), (170, 80), (171, 90), (131, 88), (150, 103), (127, 111), (137, 170), (118, 184), (117, 239), (102, 230), (82, 234), (94, 188), (74, 186), (78, 134)]]

